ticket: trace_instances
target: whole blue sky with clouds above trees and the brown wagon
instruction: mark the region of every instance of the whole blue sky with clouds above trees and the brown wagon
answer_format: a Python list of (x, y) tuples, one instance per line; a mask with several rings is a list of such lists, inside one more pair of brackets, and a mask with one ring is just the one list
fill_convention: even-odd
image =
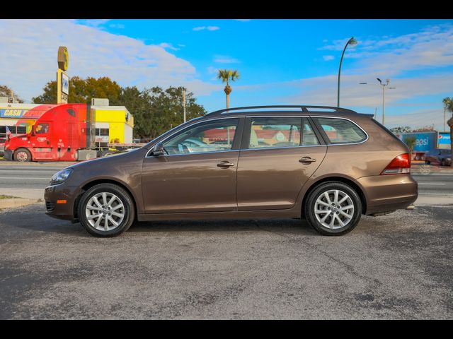
[(442, 129), (442, 98), (453, 96), (453, 20), (0, 20), (0, 35), (10, 51), (0, 66), (14, 70), (2, 78), (28, 100), (54, 78), (65, 45), (69, 76), (185, 85), (209, 111), (224, 108), (217, 69), (241, 73), (231, 106), (336, 105), (338, 64), (352, 36), (359, 43), (343, 60), (340, 106), (377, 108), (382, 119), (376, 78), (389, 78), (388, 126)]

